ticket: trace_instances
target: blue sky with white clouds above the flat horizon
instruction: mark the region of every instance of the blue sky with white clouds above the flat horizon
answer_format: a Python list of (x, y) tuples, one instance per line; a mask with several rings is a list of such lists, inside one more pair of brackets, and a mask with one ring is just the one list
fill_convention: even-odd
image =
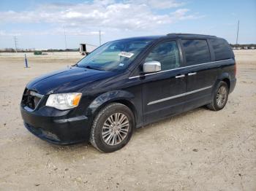
[[(0, 0), (0, 49), (78, 48), (132, 36), (210, 34), (256, 44), (256, 0)], [(65, 43), (65, 35), (66, 42)]]

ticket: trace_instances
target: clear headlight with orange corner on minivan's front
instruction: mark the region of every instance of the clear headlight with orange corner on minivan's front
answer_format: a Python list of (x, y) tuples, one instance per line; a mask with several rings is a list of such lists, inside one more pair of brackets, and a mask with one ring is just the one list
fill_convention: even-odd
[(56, 93), (50, 94), (46, 106), (56, 109), (71, 109), (78, 106), (82, 93)]

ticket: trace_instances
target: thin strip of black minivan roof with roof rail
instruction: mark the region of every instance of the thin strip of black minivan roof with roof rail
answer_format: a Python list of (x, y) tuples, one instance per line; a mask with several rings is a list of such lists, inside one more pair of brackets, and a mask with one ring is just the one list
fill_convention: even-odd
[(171, 33), (167, 35), (159, 35), (159, 36), (138, 36), (138, 37), (130, 37), (125, 39), (165, 39), (165, 38), (206, 38), (206, 39), (215, 39), (217, 36), (211, 36), (206, 34), (182, 34), (182, 33)]

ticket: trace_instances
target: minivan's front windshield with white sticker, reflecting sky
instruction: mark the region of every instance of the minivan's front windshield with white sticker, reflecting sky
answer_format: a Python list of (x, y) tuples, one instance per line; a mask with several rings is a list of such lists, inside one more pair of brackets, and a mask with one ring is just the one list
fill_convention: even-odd
[(123, 71), (152, 39), (124, 39), (107, 42), (77, 63), (78, 67)]

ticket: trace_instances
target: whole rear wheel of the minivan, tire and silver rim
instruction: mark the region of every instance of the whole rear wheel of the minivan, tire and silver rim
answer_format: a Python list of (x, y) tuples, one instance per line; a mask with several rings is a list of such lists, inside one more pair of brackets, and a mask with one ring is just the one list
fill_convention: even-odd
[(208, 109), (213, 111), (219, 111), (225, 107), (227, 104), (229, 88), (226, 82), (219, 82), (217, 85), (216, 90), (214, 91), (214, 98), (212, 99), (211, 103), (206, 105)]

